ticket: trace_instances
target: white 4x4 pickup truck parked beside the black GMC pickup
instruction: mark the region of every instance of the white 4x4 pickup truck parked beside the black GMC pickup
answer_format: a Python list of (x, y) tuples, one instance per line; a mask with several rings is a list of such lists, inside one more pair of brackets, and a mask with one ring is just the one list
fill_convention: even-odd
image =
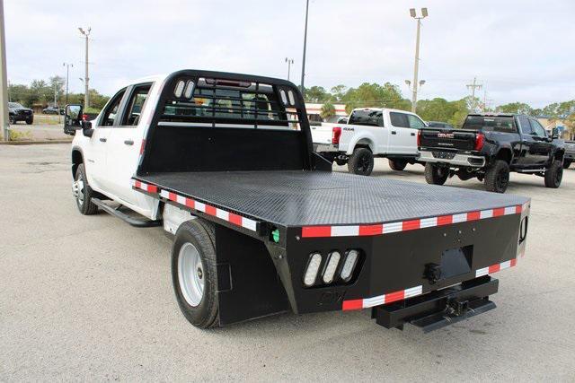
[(418, 130), (426, 127), (416, 114), (382, 108), (354, 109), (348, 124), (311, 126), (315, 152), (349, 172), (368, 176), (374, 157), (385, 157), (393, 170), (417, 163)]

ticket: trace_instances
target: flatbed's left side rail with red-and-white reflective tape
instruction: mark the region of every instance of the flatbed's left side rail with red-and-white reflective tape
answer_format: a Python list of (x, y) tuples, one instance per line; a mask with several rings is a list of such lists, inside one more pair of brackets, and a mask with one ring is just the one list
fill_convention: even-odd
[(252, 237), (260, 238), (261, 235), (264, 234), (262, 232), (264, 229), (262, 222), (252, 220), (238, 213), (210, 205), (206, 202), (201, 202), (188, 196), (182, 196), (167, 188), (159, 187), (136, 178), (132, 178), (132, 188), (148, 196), (163, 200), (166, 203), (181, 207), (209, 221), (215, 221), (233, 229), (240, 229)]

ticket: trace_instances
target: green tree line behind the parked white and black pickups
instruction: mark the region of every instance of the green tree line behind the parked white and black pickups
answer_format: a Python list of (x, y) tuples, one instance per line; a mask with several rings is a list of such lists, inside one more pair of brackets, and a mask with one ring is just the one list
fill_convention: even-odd
[[(411, 110), (411, 100), (403, 98), (398, 85), (393, 83), (362, 83), (357, 88), (348, 88), (345, 85), (332, 87), (330, 91), (321, 86), (312, 86), (305, 89), (305, 101), (322, 103), (322, 117), (329, 118), (335, 115), (333, 104), (345, 104), (346, 112), (360, 107), (376, 107)], [(448, 101), (442, 98), (419, 100), (416, 112), (426, 121), (443, 121), (460, 127), (464, 118), (471, 111), (487, 111), (500, 113), (521, 113), (533, 117), (547, 117), (551, 119), (566, 120), (569, 125), (575, 122), (575, 100), (554, 102), (542, 109), (535, 109), (524, 102), (510, 102), (492, 108), (485, 108), (482, 100), (471, 96), (461, 100)], [(572, 126), (568, 126), (571, 127)]]

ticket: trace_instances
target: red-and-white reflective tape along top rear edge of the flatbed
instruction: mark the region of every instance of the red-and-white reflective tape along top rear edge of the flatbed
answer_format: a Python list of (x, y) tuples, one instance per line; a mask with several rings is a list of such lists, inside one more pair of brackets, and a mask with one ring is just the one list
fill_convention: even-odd
[(388, 234), (397, 231), (412, 231), (435, 226), (445, 226), (458, 222), (471, 222), (502, 215), (520, 214), (522, 205), (500, 207), (497, 209), (478, 210), (475, 212), (441, 215), (431, 218), (420, 218), (410, 221), (376, 223), (351, 226), (304, 226), (302, 238), (317, 237), (358, 237)]

